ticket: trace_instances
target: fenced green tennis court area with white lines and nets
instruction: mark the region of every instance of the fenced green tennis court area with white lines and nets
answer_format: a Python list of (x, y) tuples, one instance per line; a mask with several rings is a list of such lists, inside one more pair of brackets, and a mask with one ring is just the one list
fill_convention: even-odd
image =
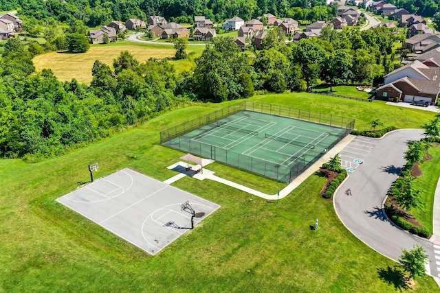
[(302, 119), (234, 112), (180, 136), (163, 139), (161, 134), (162, 144), (290, 182), (349, 133)]

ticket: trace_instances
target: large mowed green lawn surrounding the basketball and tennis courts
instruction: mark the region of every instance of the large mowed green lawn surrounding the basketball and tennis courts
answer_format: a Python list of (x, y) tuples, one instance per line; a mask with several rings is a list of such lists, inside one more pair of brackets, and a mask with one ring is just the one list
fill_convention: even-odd
[[(297, 108), (372, 117), (400, 115), (416, 128), (434, 117), (423, 110), (320, 95), (264, 95), (252, 99)], [(130, 167), (166, 180), (181, 152), (157, 144), (159, 131), (232, 102), (198, 104), (166, 113), (56, 159), (0, 161), (0, 292), (401, 292), (395, 262), (375, 253), (340, 223), (313, 175), (279, 203), (210, 180), (183, 178), (176, 187), (221, 208), (151, 257), (54, 200), (89, 179)], [(376, 116), (383, 115), (383, 116)], [(404, 118), (405, 117), (405, 118)], [(408, 118), (408, 119), (407, 119)], [(208, 169), (264, 192), (285, 185), (213, 163)], [(317, 231), (309, 226), (319, 219)], [(440, 292), (430, 277), (408, 292)]]

